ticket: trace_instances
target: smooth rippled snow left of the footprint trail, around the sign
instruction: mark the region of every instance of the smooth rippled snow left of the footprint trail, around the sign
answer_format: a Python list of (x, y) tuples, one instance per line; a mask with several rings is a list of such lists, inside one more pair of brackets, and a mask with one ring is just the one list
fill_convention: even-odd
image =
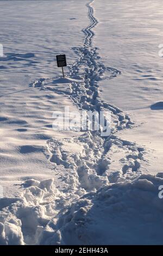
[(55, 135), (52, 114), (64, 106), (70, 106), (72, 111), (76, 107), (68, 95), (61, 90), (58, 94), (58, 88), (69, 88), (67, 81), (65, 85), (57, 84), (53, 92), (30, 87), (30, 84), (37, 78), (52, 78), (55, 84), (61, 75), (55, 55), (65, 52), (68, 65), (77, 59), (72, 47), (82, 46), (82, 29), (88, 19), (83, 20), (83, 15), (87, 16), (86, 1), (78, 3), (83, 13), (76, 11), (75, 15), (76, 7), (68, 1), (64, 1), (64, 7), (60, 1), (50, 4), (46, 1), (1, 1), (0, 4), (3, 10), (0, 33), (4, 46), (4, 57), (0, 60), (0, 159), (6, 196), (20, 191), (15, 184), (21, 180), (54, 177), (53, 166), (45, 156), (46, 141), (53, 136), (70, 137), (72, 132)]

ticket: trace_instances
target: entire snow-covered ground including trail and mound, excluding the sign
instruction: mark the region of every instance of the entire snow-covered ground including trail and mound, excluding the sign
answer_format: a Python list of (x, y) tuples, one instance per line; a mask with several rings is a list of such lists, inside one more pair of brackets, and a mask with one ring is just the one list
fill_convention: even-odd
[[(0, 1), (1, 245), (162, 244), (161, 2), (143, 3)], [(111, 111), (111, 135), (54, 131), (65, 106)]]

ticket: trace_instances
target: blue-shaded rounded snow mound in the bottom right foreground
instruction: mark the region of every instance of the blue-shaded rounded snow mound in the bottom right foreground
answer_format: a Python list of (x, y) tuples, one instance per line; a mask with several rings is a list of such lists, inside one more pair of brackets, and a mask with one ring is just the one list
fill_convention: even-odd
[(60, 216), (58, 242), (162, 244), (163, 202), (158, 198), (158, 184), (162, 182), (154, 176), (141, 175), (132, 182), (107, 185), (86, 194)]

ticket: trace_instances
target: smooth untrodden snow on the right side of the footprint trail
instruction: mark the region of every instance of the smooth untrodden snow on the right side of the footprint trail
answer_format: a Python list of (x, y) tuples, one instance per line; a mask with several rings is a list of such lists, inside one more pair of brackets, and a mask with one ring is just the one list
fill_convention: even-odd
[[(105, 3), (105, 8), (103, 8)], [(99, 81), (102, 97), (130, 114), (135, 129), (118, 136), (145, 145), (149, 151), (147, 172), (162, 172), (162, 44), (161, 0), (102, 1), (93, 3), (100, 21), (95, 42), (105, 65), (121, 71), (110, 81)], [(121, 92), (121, 93), (120, 93)]]

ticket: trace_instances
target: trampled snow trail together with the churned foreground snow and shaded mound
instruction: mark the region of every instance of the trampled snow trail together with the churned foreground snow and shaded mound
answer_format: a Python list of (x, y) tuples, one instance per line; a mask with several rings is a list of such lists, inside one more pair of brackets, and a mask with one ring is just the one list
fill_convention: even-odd
[(66, 78), (71, 93), (51, 86), (54, 78), (30, 86), (67, 94), (79, 109), (111, 111), (111, 135), (103, 138), (89, 131), (71, 139), (49, 139), (48, 160), (64, 185), (56, 188), (53, 179), (30, 179), (22, 184), (21, 198), (1, 199), (1, 244), (127, 244), (139, 243), (139, 234), (142, 243), (161, 243), (155, 235), (162, 228), (163, 207), (157, 197), (162, 175), (142, 174), (145, 149), (116, 136), (133, 123), (99, 95), (98, 81), (116, 79), (121, 72), (104, 66), (93, 47), (92, 28), (98, 21), (92, 3), (87, 4), (90, 25), (83, 29), (83, 47), (73, 48), (79, 58)]

